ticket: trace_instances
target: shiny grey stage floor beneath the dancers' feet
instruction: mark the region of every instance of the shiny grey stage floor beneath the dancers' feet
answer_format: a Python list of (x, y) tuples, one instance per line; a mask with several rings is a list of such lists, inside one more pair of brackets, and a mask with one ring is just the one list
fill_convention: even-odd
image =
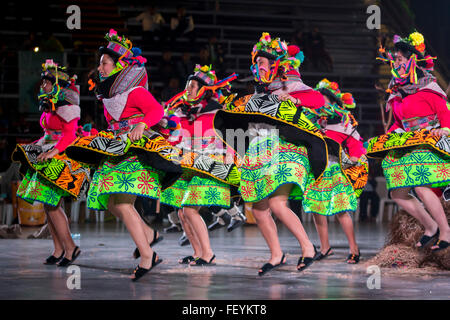
[[(305, 229), (318, 246), (314, 225), (306, 223)], [(414, 275), (382, 270), (381, 289), (368, 288), (372, 274), (364, 262), (383, 246), (386, 231), (386, 225), (356, 226), (362, 260), (352, 266), (345, 263), (348, 246), (342, 229), (330, 223), (335, 255), (299, 273), (300, 247), (279, 225), (288, 263), (264, 277), (257, 270), (269, 251), (255, 226), (211, 232), (214, 267), (179, 265), (178, 259), (192, 251), (178, 245), (180, 233), (164, 234), (154, 247), (163, 263), (133, 283), (129, 276), (138, 261), (132, 258), (134, 244), (124, 226), (74, 224), (72, 232), (81, 234), (76, 240), (82, 250), (77, 260), (81, 289), (68, 288), (75, 282), (66, 269), (42, 264), (51, 253), (51, 240), (0, 240), (0, 299), (449, 299), (450, 272)]]

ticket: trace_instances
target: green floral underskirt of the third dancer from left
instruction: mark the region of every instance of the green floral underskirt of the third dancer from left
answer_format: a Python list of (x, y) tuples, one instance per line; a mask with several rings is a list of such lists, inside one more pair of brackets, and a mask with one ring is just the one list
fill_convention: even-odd
[(172, 207), (231, 206), (230, 186), (205, 175), (186, 171), (170, 188), (161, 193), (161, 203)]

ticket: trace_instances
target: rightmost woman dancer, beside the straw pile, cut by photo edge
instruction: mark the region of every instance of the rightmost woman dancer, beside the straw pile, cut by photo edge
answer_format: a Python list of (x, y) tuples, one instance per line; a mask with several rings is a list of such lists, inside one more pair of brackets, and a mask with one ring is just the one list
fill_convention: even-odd
[[(368, 156), (383, 158), (382, 167), (392, 199), (424, 227), (416, 244), (433, 251), (448, 247), (450, 227), (440, 199), (430, 188), (450, 182), (450, 111), (445, 92), (431, 74), (433, 59), (424, 57), (425, 39), (414, 32), (394, 37), (394, 55), (380, 48), (380, 60), (390, 63), (387, 108), (395, 122), (388, 134), (369, 141)], [(411, 189), (421, 199), (410, 196)]]

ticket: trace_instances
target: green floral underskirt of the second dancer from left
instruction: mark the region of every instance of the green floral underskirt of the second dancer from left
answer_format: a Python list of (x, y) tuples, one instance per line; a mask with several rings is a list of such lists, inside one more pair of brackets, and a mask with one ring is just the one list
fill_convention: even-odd
[(88, 208), (106, 210), (112, 194), (158, 199), (162, 172), (142, 164), (137, 156), (108, 157), (92, 178)]

